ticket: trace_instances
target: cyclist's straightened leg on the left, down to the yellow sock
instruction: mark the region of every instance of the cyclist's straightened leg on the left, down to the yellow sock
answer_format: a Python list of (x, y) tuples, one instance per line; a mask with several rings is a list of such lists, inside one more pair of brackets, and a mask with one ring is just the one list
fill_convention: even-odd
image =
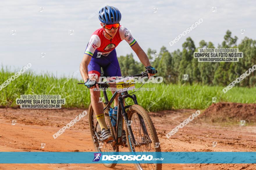
[[(100, 77), (100, 68), (101, 68), (100, 65), (95, 61), (94, 58), (92, 58), (88, 65), (89, 78), (95, 78), (96, 81), (98, 82)], [(91, 94), (91, 103), (92, 103), (93, 111), (99, 122), (101, 130), (103, 128), (108, 129), (105, 122), (105, 118), (104, 118), (102, 102), (99, 103), (100, 91), (95, 91), (94, 89), (90, 89), (90, 94)]]

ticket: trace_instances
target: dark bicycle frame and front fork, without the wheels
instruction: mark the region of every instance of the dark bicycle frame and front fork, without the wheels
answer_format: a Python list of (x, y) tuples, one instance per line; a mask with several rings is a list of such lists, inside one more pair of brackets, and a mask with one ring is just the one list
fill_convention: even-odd
[[(113, 96), (111, 97), (111, 99), (109, 101), (108, 96), (106, 94), (105, 87), (100, 87), (100, 88), (103, 88), (103, 95), (104, 95), (104, 98), (105, 98), (105, 101), (106, 101), (106, 102), (104, 102), (106, 104), (106, 107), (104, 107), (104, 112), (105, 112), (106, 109), (110, 109), (111, 104), (113, 103), (115, 97), (118, 95), (118, 91), (115, 91), (115, 93), (113, 94)], [(128, 98), (128, 97), (131, 98), (134, 101), (134, 104), (138, 105), (137, 98), (136, 98), (135, 94), (129, 95), (127, 91), (119, 92), (117, 124), (116, 124), (115, 127), (113, 127), (113, 131), (115, 133), (114, 134), (115, 135), (115, 140), (116, 140), (115, 145), (123, 145), (124, 146), (126, 144), (125, 141), (122, 140), (123, 119), (124, 119), (125, 124), (127, 126), (128, 133), (129, 133), (129, 136), (131, 138), (131, 142), (134, 144), (134, 147), (141, 146), (141, 145), (146, 145), (146, 142), (141, 142), (141, 143), (136, 142), (136, 140), (134, 138), (134, 134), (131, 130), (131, 126), (128, 125), (128, 114), (125, 111), (125, 109), (129, 108), (131, 105), (127, 105), (127, 106), (124, 105), (124, 99)], [(144, 122), (142, 116), (139, 115), (139, 114), (137, 114), (137, 115), (138, 115), (139, 121), (141, 123), (143, 133), (146, 134), (147, 136), (149, 136), (148, 133), (147, 133), (145, 122)], [(151, 140), (150, 140), (150, 143), (152, 143)]]

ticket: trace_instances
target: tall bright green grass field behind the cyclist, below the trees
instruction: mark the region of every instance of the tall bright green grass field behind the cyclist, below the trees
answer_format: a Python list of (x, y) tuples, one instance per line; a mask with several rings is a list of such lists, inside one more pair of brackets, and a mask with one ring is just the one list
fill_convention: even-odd
[[(14, 75), (8, 69), (1, 69), (0, 84)], [(59, 94), (66, 99), (62, 107), (88, 108), (90, 104), (90, 92), (84, 85), (77, 85), (82, 80), (70, 79), (64, 85), (66, 77), (56, 78), (54, 75), (36, 75), (31, 71), (16, 78), (0, 91), (1, 107), (17, 107), (16, 98), (21, 94)], [(140, 87), (141, 84), (136, 84)], [(233, 87), (227, 93), (223, 93), (224, 87), (205, 85), (174, 85), (174, 84), (145, 84), (143, 87), (155, 88), (155, 91), (135, 92), (138, 104), (150, 111), (165, 109), (205, 109), (211, 105), (212, 97), (217, 97), (216, 102), (256, 103), (256, 88)], [(162, 94), (166, 95), (159, 98)], [(109, 99), (111, 92), (108, 92)], [(103, 95), (102, 95), (103, 97)], [(152, 107), (148, 107), (157, 98)], [(132, 104), (131, 99), (126, 99), (127, 104)]]

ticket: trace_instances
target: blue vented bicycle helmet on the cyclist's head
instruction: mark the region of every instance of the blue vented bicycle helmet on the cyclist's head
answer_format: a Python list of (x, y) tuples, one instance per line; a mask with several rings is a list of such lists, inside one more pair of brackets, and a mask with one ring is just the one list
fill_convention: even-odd
[(104, 24), (115, 24), (121, 21), (120, 11), (113, 6), (105, 6), (99, 10), (99, 21)]

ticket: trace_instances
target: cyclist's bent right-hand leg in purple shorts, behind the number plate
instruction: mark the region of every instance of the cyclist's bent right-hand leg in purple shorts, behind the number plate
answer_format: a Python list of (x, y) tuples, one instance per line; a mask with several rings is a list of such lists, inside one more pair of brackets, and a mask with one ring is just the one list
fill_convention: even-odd
[[(121, 69), (118, 63), (115, 49), (108, 56), (103, 57), (103, 59), (105, 59), (106, 62), (109, 63), (105, 67), (102, 67), (102, 70), (104, 71), (104, 74), (106, 76), (109, 76), (109, 77), (121, 76)], [(111, 92), (112, 94), (114, 94), (115, 90), (111, 90)], [(118, 103), (117, 101), (118, 101), (118, 96), (115, 97), (114, 106), (117, 106), (117, 103)]]

